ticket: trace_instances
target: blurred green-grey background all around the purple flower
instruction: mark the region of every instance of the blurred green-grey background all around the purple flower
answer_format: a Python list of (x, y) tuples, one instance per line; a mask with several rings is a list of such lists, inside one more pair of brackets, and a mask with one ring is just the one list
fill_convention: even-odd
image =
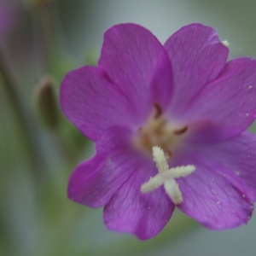
[(63, 76), (96, 64), (114, 24), (138, 23), (164, 43), (201, 22), (230, 42), (230, 58), (256, 57), (255, 9), (255, 0), (0, 0), (0, 255), (256, 255), (255, 216), (212, 231), (176, 211), (149, 241), (108, 231), (102, 209), (67, 199), (93, 144), (58, 103)]

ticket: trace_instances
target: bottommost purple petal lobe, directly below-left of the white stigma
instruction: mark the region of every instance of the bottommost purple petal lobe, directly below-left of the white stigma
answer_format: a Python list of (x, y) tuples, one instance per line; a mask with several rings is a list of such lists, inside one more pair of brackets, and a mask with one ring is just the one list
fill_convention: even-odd
[(156, 172), (152, 161), (133, 166), (132, 171), (131, 177), (104, 207), (104, 221), (110, 230), (128, 232), (144, 240), (163, 229), (174, 205), (163, 188), (148, 194), (140, 191), (142, 183)]

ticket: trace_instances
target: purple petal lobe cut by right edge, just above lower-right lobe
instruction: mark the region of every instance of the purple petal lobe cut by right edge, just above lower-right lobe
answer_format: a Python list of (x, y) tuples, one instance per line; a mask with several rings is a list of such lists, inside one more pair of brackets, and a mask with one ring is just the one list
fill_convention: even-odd
[(220, 143), (194, 148), (208, 160), (228, 169), (225, 175), (231, 183), (256, 201), (256, 136), (243, 132), (241, 136)]

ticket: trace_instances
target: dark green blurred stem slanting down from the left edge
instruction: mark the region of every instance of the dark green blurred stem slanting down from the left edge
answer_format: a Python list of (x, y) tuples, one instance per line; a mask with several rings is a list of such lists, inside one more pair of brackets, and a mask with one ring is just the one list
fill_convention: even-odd
[(0, 49), (0, 77), (3, 80), (3, 87), (9, 99), (11, 108), (13, 108), (17, 124), (20, 125), (20, 131), (23, 134), (24, 143), (30, 156), (32, 173), (39, 182), (43, 176), (45, 167), (44, 154), (38, 142), (38, 137), (35, 131), (35, 125), (32, 120), (32, 113), (28, 107), (21, 101), (20, 95), (16, 90), (14, 81), (9, 72), (9, 69), (4, 61), (3, 52)]

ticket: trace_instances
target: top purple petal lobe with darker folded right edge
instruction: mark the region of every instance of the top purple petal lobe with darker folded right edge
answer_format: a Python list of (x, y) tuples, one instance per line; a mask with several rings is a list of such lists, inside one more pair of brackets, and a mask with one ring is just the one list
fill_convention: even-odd
[(171, 62), (158, 39), (142, 26), (110, 28), (104, 35), (99, 67), (129, 97), (142, 121), (148, 118), (154, 102), (166, 108), (171, 100)]

